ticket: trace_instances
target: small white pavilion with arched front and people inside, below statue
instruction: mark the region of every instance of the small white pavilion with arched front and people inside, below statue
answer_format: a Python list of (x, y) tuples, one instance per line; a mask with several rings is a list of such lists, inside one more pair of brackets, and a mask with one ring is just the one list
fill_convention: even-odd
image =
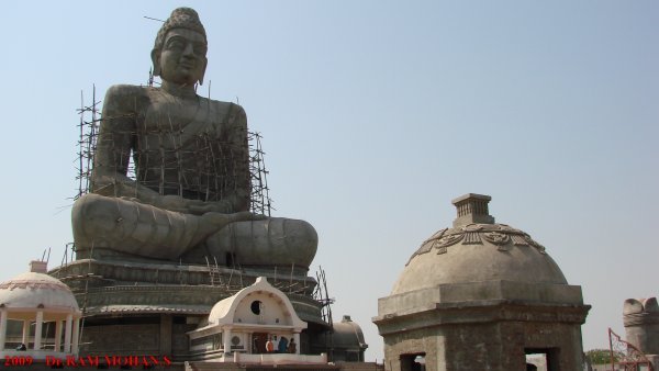
[[(190, 351), (198, 360), (286, 364), (326, 363), (327, 356), (300, 353), (300, 319), (288, 296), (265, 277), (217, 302), (208, 324), (188, 333)], [(273, 342), (267, 349), (268, 340)], [(291, 347), (291, 342), (293, 346)]]

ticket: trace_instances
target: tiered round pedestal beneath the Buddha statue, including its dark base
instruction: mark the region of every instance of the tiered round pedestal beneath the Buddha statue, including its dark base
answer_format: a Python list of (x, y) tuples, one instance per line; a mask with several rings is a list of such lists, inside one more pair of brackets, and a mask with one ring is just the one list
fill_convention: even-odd
[(185, 361), (186, 335), (213, 305), (267, 277), (298, 316), (324, 326), (316, 285), (306, 270), (80, 259), (49, 272), (72, 290), (83, 315), (81, 356), (153, 356)]

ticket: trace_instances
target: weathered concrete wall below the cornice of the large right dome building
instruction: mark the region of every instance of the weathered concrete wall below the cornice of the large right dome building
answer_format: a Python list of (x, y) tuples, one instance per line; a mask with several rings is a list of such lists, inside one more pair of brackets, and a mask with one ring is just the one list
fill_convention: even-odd
[(581, 370), (573, 325), (523, 322), (447, 325), (384, 337), (387, 370), (405, 371), (401, 355), (425, 353), (427, 371), (525, 371), (526, 351), (546, 352), (555, 370)]

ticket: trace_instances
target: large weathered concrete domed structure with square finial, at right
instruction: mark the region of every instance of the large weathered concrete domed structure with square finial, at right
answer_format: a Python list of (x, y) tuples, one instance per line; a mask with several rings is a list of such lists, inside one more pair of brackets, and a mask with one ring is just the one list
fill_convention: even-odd
[(453, 228), (412, 255), (373, 323), (387, 370), (526, 370), (545, 353), (550, 371), (580, 370), (590, 310), (545, 248), (489, 215), (490, 196), (454, 200)]

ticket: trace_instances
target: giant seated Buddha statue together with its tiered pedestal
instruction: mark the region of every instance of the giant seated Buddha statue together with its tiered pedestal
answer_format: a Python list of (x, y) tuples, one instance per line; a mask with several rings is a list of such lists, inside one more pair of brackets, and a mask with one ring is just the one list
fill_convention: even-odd
[(49, 272), (83, 311), (83, 356), (190, 360), (187, 333), (257, 277), (268, 277), (313, 324), (305, 338), (327, 328), (316, 282), (306, 277), (314, 228), (248, 212), (245, 111), (196, 93), (206, 46), (197, 12), (179, 8), (152, 52), (161, 86), (107, 92), (91, 193), (71, 214), (77, 260)]

